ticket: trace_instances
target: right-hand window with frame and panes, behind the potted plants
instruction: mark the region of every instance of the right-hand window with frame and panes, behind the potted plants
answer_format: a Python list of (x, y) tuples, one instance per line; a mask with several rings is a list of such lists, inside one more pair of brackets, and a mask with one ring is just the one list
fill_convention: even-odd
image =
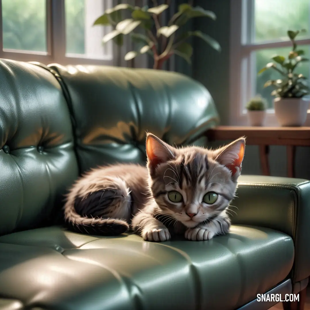
[[(279, 73), (266, 70), (258, 75), (275, 55), (288, 55), (291, 42), (287, 30), (306, 29), (296, 41), (310, 58), (310, 2), (309, 0), (231, 0), (231, 67), (230, 67), (230, 123), (246, 125), (245, 106), (259, 94), (268, 101), (267, 126), (277, 126), (273, 110), (271, 88), (263, 88), (269, 79), (280, 78)], [(297, 72), (297, 71), (296, 71)], [(309, 63), (302, 63), (298, 72), (309, 78)], [(305, 126), (310, 124), (310, 110)]]

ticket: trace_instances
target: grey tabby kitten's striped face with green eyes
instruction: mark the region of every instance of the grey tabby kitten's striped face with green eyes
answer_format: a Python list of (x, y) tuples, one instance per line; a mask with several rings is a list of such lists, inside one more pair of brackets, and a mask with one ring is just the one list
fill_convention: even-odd
[(148, 139), (154, 139), (152, 150), (147, 144), (149, 184), (162, 214), (172, 215), (172, 224), (178, 220), (193, 228), (226, 212), (236, 192), (243, 154), (237, 161), (236, 155), (242, 146), (244, 152), (244, 139), (216, 151), (176, 149), (153, 135)]

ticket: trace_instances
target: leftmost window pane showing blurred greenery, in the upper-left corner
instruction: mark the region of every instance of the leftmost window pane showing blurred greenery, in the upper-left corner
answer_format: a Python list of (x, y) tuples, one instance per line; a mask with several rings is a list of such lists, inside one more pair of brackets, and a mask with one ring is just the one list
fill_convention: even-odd
[(47, 51), (46, 0), (2, 0), (3, 48)]

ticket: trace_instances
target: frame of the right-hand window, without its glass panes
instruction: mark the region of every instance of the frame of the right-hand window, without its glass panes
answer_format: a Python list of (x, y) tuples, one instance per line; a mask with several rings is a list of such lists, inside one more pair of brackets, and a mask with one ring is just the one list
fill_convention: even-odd
[[(288, 41), (250, 42), (251, 20), (255, 0), (230, 0), (230, 68), (229, 68), (229, 125), (248, 124), (244, 104), (255, 95), (255, 59), (253, 51), (263, 48), (290, 47)], [(245, 14), (243, 12), (246, 12)], [(296, 40), (298, 45), (310, 45), (310, 38)], [(252, 54), (253, 55), (253, 54)], [(279, 126), (274, 109), (267, 109), (265, 126)], [(304, 126), (310, 126), (310, 109)]]

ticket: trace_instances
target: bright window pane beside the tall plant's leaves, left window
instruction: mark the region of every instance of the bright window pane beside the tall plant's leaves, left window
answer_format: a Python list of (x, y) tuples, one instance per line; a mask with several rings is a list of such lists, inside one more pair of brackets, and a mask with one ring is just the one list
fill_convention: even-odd
[(102, 38), (110, 27), (93, 26), (110, 7), (111, 0), (65, 0), (67, 56), (104, 59), (112, 55), (110, 42), (102, 45)]

